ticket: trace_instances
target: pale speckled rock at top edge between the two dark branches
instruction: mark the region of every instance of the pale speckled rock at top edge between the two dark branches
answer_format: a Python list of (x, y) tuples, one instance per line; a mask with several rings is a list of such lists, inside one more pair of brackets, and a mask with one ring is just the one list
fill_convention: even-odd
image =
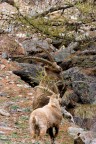
[(38, 16), (38, 14), (49, 10), (54, 5), (58, 6), (60, 3), (62, 3), (62, 1), (58, 3), (57, 0), (15, 0), (15, 3), (16, 5), (19, 5), (19, 10), (23, 15), (27, 14), (32, 17)]

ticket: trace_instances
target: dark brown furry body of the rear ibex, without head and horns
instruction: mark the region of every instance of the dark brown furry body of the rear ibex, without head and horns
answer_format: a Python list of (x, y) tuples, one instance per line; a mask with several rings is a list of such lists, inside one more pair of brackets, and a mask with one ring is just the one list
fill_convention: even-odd
[[(47, 73), (46, 73), (47, 72)], [(39, 86), (47, 87), (56, 94), (59, 94), (56, 82), (60, 79), (57, 73), (52, 72), (52, 70), (45, 69), (44, 78), (41, 80)], [(36, 88), (35, 98), (33, 100), (33, 110), (43, 107), (49, 102), (50, 93), (40, 88)]]

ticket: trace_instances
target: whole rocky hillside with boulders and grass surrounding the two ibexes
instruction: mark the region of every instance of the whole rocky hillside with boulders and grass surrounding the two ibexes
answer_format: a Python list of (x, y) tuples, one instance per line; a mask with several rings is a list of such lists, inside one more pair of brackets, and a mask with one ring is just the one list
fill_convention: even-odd
[[(19, 2), (21, 5), (22, 1)], [(54, 2), (56, 1), (53, 1), (53, 5)], [(44, 1), (42, 4), (41, 7), (45, 6)], [(31, 5), (35, 6), (33, 9), (35, 11), (38, 4), (36, 6), (31, 3)], [(46, 5), (50, 9), (49, 3)], [(29, 10), (30, 5), (26, 1), (22, 6), (20, 7), (21, 14), (24, 14), (26, 10), (34, 14), (31, 9)], [(87, 6), (92, 10), (89, 5)], [(33, 27), (37, 31), (34, 31), (33, 27), (30, 30), (29, 23), (22, 22), (23, 19), (19, 22), (10, 22), (6, 14), (12, 10), (9, 15), (14, 17), (17, 9), (5, 2), (0, 4), (0, 12), (4, 12), (4, 19), (0, 21), (2, 26), (0, 29), (1, 143), (31, 143), (28, 119), (34, 99), (35, 90), (32, 87), (40, 82), (37, 75), (38, 71), (42, 71), (42, 64), (38, 66), (38, 63), (26, 57), (38, 56), (48, 59), (40, 47), (48, 50), (58, 65), (62, 67), (61, 76), (65, 87), (62, 105), (66, 105), (71, 111), (76, 124), (92, 133), (96, 132), (96, 22), (95, 18), (93, 19), (95, 11), (93, 10), (89, 18), (88, 9), (83, 9), (85, 11), (81, 16), (82, 8), (80, 8), (81, 5), (77, 5), (65, 11), (49, 13), (42, 19), (30, 19), (31, 24), (35, 21)], [(0, 17), (2, 18), (2, 15)], [(2, 25), (6, 18), (9, 21), (5, 21), (6, 23)], [(89, 18), (87, 24), (84, 18)], [(47, 36), (42, 34), (42, 28)], [(67, 120), (62, 121), (57, 143), (73, 143), (73, 138), (67, 132), (70, 125)], [(85, 134), (85, 137), (88, 140), (88, 135)], [(85, 144), (88, 142), (93, 144), (90, 140)], [(44, 143), (49, 143), (48, 136), (44, 137)]]

